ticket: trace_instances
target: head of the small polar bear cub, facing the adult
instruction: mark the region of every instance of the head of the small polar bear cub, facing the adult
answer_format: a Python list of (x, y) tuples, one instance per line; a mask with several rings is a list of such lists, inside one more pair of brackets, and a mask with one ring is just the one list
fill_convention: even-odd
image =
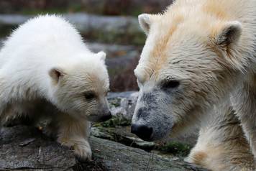
[(65, 63), (50, 70), (52, 101), (61, 111), (89, 121), (111, 118), (106, 100), (109, 75), (105, 57), (104, 52), (90, 52), (78, 57), (76, 63)]

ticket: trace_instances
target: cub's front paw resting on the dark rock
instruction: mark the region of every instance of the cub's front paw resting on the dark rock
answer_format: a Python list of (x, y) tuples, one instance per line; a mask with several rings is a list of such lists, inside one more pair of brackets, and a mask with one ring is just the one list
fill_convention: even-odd
[(58, 139), (58, 142), (63, 146), (73, 149), (74, 154), (80, 162), (85, 162), (87, 160), (91, 161), (91, 147), (86, 140), (60, 141), (60, 139)]

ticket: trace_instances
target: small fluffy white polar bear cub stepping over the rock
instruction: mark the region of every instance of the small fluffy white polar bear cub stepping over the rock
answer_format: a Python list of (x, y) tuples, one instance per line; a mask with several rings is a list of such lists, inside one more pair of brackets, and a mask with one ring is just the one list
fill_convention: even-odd
[(0, 119), (50, 116), (58, 142), (91, 158), (88, 121), (111, 117), (104, 52), (93, 53), (62, 17), (19, 26), (0, 51)]

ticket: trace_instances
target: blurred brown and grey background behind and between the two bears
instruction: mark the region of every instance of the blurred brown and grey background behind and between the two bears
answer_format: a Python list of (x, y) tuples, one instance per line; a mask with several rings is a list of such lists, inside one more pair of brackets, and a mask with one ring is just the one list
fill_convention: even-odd
[[(37, 14), (70, 15), (93, 51), (107, 53), (111, 91), (136, 91), (133, 70), (145, 43), (137, 15), (163, 11), (172, 0), (1, 0), (0, 39)], [(88, 18), (86, 18), (88, 17)], [(87, 21), (87, 20), (88, 21)], [(86, 22), (87, 21), (87, 22)]]

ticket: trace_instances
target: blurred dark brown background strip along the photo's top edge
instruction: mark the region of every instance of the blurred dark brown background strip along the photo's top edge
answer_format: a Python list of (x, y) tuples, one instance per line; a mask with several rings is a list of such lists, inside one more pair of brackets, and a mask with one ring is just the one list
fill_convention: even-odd
[(157, 13), (170, 0), (1, 0), (1, 13), (38, 14), (88, 12), (100, 15), (132, 15)]

